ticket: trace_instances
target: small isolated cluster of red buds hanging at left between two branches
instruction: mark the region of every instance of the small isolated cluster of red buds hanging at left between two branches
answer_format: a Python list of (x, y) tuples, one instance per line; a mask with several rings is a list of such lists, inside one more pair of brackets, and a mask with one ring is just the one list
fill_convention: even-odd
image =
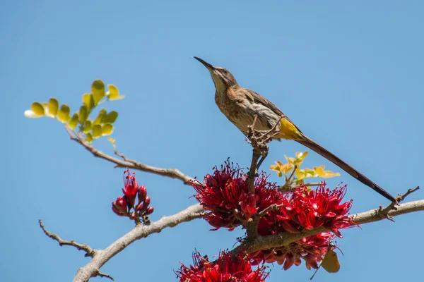
[[(150, 197), (147, 195), (147, 190), (144, 185), (139, 186), (136, 181), (135, 173), (130, 173), (129, 169), (124, 171), (124, 192), (123, 197), (118, 197), (116, 201), (112, 202), (112, 211), (118, 216), (127, 216), (130, 219), (145, 220), (146, 216), (152, 214), (153, 207), (149, 207), (151, 202)], [(136, 198), (138, 200), (136, 204)]]

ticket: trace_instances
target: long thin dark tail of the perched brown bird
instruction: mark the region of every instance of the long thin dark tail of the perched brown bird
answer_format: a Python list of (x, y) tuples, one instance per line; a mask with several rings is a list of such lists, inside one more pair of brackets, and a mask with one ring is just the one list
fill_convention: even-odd
[(382, 195), (383, 197), (390, 200), (391, 202), (396, 202), (395, 198), (392, 195), (390, 195), (389, 192), (387, 192), (383, 188), (379, 187), (379, 185), (372, 182), (369, 178), (364, 176), (362, 173), (357, 171), (352, 166), (349, 166), (348, 164), (346, 164), (344, 161), (342, 161), (341, 159), (336, 157), (336, 155), (332, 154), (331, 152), (329, 152), (327, 149), (325, 149), (321, 145), (318, 145), (316, 142), (310, 140), (309, 137), (307, 137), (307, 136), (305, 136), (301, 133), (301, 137), (297, 138), (296, 141), (299, 142), (300, 144), (312, 149), (314, 152), (317, 152), (318, 154), (322, 155), (322, 157), (328, 159), (333, 164), (335, 164), (339, 168), (343, 169), (343, 171), (346, 171), (347, 173), (349, 173), (354, 178), (360, 180), (360, 182), (362, 182), (365, 185), (372, 188), (372, 190), (375, 190), (375, 192), (379, 193), (379, 195)]

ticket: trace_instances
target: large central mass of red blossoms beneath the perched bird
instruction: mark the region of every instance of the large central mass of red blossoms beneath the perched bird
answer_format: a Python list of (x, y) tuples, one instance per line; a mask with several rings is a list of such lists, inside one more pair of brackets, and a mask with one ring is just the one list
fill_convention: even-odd
[(346, 194), (346, 185), (331, 191), (323, 182), (316, 190), (300, 185), (291, 192), (283, 193), (275, 184), (267, 182), (266, 175), (261, 173), (254, 183), (254, 195), (250, 195), (246, 179), (240, 168), (230, 166), (226, 161), (220, 170), (215, 168), (213, 175), (208, 174), (203, 184), (193, 183), (196, 199), (209, 211), (205, 219), (211, 226), (231, 231), (237, 226), (245, 226), (256, 212), (276, 204), (278, 209), (269, 210), (259, 219), (259, 235), (300, 233), (320, 226), (332, 231), (303, 238), (289, 246), (255, 252), (251, 254), (255, 264), (277, 262), (283, 264), (284, 269), (289, 269), (293, 264), (298, 266), (302, 258), (308, 269), (316, 269), (334, 235), (341, 237), (338, 229), (355, 225), (346, 216), (352, 201), (341, 202)]

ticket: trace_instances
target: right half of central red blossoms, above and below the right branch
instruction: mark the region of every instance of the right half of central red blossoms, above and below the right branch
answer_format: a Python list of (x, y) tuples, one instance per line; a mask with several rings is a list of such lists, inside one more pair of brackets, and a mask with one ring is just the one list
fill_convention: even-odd
[(335, 235), (341, 237), (338, 228), (356, 225), (346, 216), (351, 209), (352, 201), (341, 203), (345, 194), (346, 185), (330, 191), (329, 188), (325, 188), (323, 182), (316, 190), (309, 191), (305, 185), (300, 185), (282, 197), (274, 196), (274, 201), (282, 204), (282, 207), (268, 212), (259, 220), (259, 235), (300, 233), (303, 229), (312, 230), (319, 226), (331, 228), (332, 233), (320, 233), (302, 238), (285, 247), (254, 252), (250, 257), (258, 263), (283, 264), (283, 269), (289, 269), (293, 264), (299, 265), (302, 258), (307, 269), (317, 269), (327, 250), (332, 248), (329, 247), (331, 240)]

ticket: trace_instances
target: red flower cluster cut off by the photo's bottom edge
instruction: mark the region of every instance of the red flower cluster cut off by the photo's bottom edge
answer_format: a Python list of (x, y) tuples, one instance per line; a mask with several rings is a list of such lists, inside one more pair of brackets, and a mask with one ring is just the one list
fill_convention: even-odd
[(249, 259), (225, 252), (214, 262), (196, 252), (193, 264), (176, 271), (180, 282), (264, 282), (267, 276), (264, 266), (253, 270)]

